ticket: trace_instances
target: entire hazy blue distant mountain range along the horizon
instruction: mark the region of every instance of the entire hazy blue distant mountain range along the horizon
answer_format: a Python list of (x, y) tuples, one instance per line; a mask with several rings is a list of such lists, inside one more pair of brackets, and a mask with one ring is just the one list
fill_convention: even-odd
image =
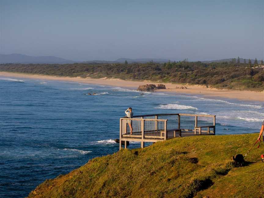
[[(64, 58), (54, 57), (54, 56), (27, 56), (24, 54), (0, 54), (0, 64), (3, 63), (33, 63), (33, 64), (67, 64), (67, 63), (124, 63), (127, 60), (128, 63), (148, 63), (153, 61), (155, 63), (165, 63), (168, 62), (168, 59), (151, 59), (151, 58), (138, 58), (138, 59), (130, 59), (130, 58), (119, 58), (114, 61), (109, 60), (89, 60), (89, 61), (73, 61)], [(237, 59), (236, 59), (237, 60)], [(251, 59), (251, 62), (254, 63), (255, 59)], [(232, 58), (228, 59), (220, 59), (220, 60), (204, 60), (201, 61), (203, 63), (211, 63), (211, 62), (230, 62)], [(248, 59), (246, 59), (248, 63)], [(258, 60), (260, 63), (260, 60)], [(244, 58), (240, 58), (240, 63), (244, 63)]]

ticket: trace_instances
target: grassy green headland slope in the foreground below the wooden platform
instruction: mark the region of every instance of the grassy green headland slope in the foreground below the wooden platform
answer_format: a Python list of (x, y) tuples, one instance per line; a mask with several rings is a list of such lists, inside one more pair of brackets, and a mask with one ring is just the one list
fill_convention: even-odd
[(261, 197), (263, 142), (246, 156), (247, 166), (234, 167), (232, 160), (257, 137), (193, 136), (122, 149), (46, 180), (28, 197)]

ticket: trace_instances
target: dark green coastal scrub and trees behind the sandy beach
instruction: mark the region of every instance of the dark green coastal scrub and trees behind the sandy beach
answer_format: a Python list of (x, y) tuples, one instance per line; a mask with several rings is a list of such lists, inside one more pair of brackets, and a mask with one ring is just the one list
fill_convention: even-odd
[(170, 62), (124, 64), (0, 64), (0, 71), (56, 75), (82, 78), (119, 78), (153, 82), (189, 83), (218, 89), (264, 90), (264, 68), (258, 63), (230, 62)]

